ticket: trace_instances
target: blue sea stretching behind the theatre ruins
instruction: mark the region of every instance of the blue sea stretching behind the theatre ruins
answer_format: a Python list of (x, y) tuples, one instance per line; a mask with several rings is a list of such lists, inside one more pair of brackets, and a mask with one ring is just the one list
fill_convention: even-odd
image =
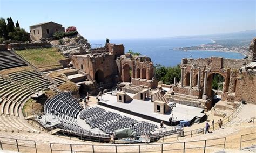
[[(105, 40), (89, 40), (90, 44), (104, 44)], [(244, 55), (233, 52), (220, 51), (200, 51), (190, 50), (181, 51), (173, 50), (178, 47), (198, 46), (201, 44), (211, 43), (210, 39), (201, 38), (159, 38), (159, 39), (118, 39), (111, 40), (110, 43), (124, 44), (125, 52), (132, 50), (139, 52), (142, 55), (147, 55), (151, 58), (154, 64), (161, 64), (164, 66), (176, 66), (181, 63), (182, 58), (207, 58), (211, 56), (242, 59)], [(96, 47), (99, 45), (92, 45)]]

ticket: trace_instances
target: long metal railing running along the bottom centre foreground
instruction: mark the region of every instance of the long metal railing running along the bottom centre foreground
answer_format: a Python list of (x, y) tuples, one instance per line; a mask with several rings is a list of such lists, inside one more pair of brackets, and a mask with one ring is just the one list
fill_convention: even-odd
[[(210, 152), (211, 147), (219, 147), (225, 150), (226, 138), (214, 138), (208, 140), (130, 144), (130, 145), (87, 145), (87, 144), (60, 144), (50, 143), (51, 152), (165, 152), (165, 151), (193, 151)], [(221, 148), (220, 148), (221, 147)]]

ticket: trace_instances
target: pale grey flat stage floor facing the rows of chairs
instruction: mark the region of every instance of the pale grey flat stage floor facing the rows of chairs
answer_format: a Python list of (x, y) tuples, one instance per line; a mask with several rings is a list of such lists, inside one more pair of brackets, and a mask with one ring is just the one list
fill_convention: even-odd
[[(131, 98), (134, 94), (126, 93)], [(99, 105), (109, 107), (112, 109), (119, 110), (127, 114), (142, 117), (147, 120), (160, 123), (162, 120), (165, 124), (169, 124), (169, 118), (172, 117), (174, 120), (188, 120), (193, 121), (196, 117), (203, 117), (205, 114), (204, 109), (191, 107), (181, 104), (176, 104), (172, 112), (167, 112), (166, 114), (154, 113), (154, 103), (150, 99), (145, 101), (133, 99), (128, 103), (117, 102), (117, 98), (114, 95), (104, 94)]]

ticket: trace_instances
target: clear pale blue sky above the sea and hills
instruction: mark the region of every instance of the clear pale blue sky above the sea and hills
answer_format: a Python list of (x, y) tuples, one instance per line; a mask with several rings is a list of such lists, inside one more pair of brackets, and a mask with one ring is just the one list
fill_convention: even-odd
[(256, 29), (255, 0), (12, 1), (1, 17), (21, 27), (53, 21), (87, 39), (161, 38)]

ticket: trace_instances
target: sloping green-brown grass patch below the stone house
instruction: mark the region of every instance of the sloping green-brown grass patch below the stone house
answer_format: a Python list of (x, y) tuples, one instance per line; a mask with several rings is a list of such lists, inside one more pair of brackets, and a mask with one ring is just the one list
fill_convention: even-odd
[(40, 70), (62, 67), (58, 61), (65, 59), (65, 57), (58, 52), (57, 48), (19, 50), (16, 51), (16, 53), (25, 57)]

